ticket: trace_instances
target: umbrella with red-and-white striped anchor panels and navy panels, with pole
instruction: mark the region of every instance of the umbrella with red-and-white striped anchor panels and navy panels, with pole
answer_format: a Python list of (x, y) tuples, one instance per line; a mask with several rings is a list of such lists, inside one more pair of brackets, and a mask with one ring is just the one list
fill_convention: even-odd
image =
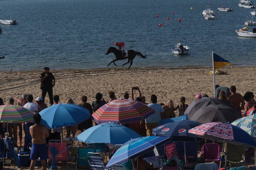
[(217, 139), (223, 142), (223, 147), (225, 142), (254, 148), (256, 146), (256, 141), (246, 131), (230, 123), (210, 122), (194, 127), (188, 133), (213, 141)]

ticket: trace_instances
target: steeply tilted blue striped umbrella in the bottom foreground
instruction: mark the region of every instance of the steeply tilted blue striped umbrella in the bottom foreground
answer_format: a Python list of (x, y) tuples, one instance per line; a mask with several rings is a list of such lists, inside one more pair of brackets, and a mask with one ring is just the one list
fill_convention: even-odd
[(134, 159), (169, 141), (170, 138), (159, 136), (147, 136), (128, 141), (114, 153), (105, 168), (111, 168), (113, 164), (127, 162), (128, 159)]

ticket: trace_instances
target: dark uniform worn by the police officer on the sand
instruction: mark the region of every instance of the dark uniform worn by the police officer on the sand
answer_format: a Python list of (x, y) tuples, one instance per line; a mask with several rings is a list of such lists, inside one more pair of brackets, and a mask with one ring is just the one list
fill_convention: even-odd
[[(40, 79), (45, 76), (45, 72), (40, 74)], [(48, 73), (48, 76), (45, 78), (44, 81), (41, 82), (41, 90), (42, 90), (42, 99), (45, 102), (45, 96), (48, 92), (50, 104), (53, 104), (53, 95), (52, 95), (52, 81), (55, 80), (55, 77), (52, 73)]]

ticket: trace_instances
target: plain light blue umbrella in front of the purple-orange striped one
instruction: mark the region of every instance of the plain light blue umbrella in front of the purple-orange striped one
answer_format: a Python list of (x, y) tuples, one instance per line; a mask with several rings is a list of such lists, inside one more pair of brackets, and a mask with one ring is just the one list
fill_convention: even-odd
[(115, 123), (102, 123), (83, 131), (75, 137), (75, 140), (85, 143), (111, 143), (112, 145), (118, 145), (139, 137), (141, 135), (128, 127)]

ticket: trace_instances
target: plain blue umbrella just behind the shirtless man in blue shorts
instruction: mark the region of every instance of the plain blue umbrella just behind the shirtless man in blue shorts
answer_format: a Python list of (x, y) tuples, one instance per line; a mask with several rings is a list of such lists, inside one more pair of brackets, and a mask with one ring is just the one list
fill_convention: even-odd
[(40, 124), (47, 126), (48, 129), (63, 126), (74, 126), (84, 120), (91, 118), (90, 111), (76, 104), (54, 104), (41, 112)]

